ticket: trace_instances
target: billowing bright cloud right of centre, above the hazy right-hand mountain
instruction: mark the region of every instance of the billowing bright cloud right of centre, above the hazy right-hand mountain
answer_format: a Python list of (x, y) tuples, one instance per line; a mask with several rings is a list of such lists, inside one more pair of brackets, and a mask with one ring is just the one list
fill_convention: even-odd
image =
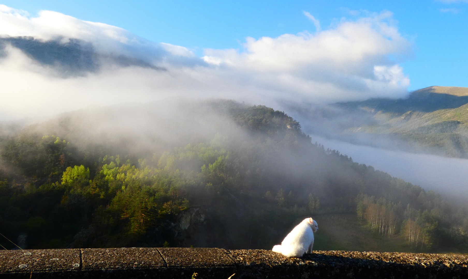
[[(248, 75), (257, 85), (315, 101), (402, 97), (409, 79), (389, 54), (410, 51), (391, 14), (344, 21), (315, 34), (247, 38), (244, 50), (206, 50), (205, 61)], [(222, 62), (220, 62), (222, 61)], [(385, 73), (384, 73), (385, 72)], [(294, 96), (294, 97), (293, 97)]]

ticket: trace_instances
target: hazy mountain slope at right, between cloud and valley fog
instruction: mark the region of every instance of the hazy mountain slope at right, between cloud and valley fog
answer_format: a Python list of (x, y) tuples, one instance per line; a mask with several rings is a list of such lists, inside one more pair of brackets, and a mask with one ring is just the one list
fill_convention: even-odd
[(369, 99), (300, 112), (308, 132), (351, 143), (468, 158), (468, 88), (431, 86), (406, 99)]

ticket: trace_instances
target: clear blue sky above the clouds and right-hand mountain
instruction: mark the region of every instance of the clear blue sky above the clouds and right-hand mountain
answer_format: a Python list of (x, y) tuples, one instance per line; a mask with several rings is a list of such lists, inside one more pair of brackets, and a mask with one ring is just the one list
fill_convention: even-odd
[(127, 29), (154, 42), (181, 45), (202, 56), (203, 49), (241, 48), (248, 36), (277, 37), (314, 32), (303, 11), (322, 29), (342, 17), (388, 10), (402, 34), (414, 44), (414, 55), (402, 61), (410, 90), (432, 85), (468, 86), (468, 4), (465, 1), (56, 1), (4, 0), (28, 11), (52, 10), (86, 21)]

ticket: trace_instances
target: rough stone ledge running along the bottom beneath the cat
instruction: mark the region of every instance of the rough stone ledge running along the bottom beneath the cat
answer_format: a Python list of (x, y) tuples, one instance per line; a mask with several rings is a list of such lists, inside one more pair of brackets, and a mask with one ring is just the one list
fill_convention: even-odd
[(468, 256), (271, 250), (102, 248), (0, 251), (2, 278), (468, 278)]

